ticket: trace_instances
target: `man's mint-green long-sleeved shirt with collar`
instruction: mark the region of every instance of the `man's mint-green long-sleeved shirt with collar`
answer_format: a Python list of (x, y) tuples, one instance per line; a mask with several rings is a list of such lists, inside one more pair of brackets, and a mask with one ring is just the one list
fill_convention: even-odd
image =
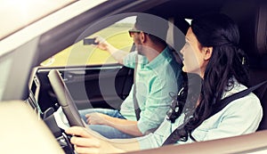
[[(134, 69), (136, 55), (137, 52), (134, 52), (125, 57), (126, 67)], [(137, 126), (145, 134), (163, 122), (171, 103), (169, 93), (178, 93), (182, 86), (182, 66), (175, 61), (168, 47), (150, 62), (145, 56), (138, 56), (135, 85), (141, 114)], [(129, 120), (136, 120), (133, 94), (134, 85), (120, 109), (120, 113)]]

